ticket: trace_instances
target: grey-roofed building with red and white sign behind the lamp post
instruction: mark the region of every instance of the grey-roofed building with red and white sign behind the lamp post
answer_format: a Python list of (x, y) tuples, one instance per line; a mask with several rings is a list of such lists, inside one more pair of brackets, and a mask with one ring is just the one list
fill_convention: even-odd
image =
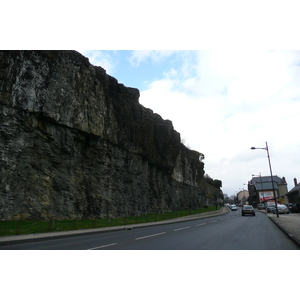
[[(284, 177), (273, 176), (275, 197), (279, 203), (288, 203), (287, 183)], [(254, 176), (248, 182), (249, 204), (257, 207), (258, 204), (274, 201), (271, 176)]]

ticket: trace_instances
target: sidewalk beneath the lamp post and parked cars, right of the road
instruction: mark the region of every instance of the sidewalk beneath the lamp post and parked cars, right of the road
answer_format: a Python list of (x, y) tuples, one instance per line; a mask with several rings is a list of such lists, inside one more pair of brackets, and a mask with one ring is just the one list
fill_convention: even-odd
[(290, 213), (290, 214), (276, 214), (266, 213), (265, 211), (260, 211), (265, 213), (269, 219), (271, 219), (289, 238), (300, 248), (300, 214)]

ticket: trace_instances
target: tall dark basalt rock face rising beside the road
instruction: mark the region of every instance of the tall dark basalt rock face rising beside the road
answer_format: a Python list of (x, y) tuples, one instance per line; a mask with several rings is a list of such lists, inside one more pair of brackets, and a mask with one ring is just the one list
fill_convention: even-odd
[(1, 219), (209, 204), (199, 153), (171, 121), (75, 51), (0, 51), (0, 118)]

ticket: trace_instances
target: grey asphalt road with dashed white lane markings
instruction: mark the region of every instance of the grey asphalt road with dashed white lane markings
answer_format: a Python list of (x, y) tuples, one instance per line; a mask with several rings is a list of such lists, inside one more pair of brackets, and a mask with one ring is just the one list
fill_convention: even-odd
[(93, 235), (2, 246), (0, 250), (299, 250), (263, 213), (226, 215)]

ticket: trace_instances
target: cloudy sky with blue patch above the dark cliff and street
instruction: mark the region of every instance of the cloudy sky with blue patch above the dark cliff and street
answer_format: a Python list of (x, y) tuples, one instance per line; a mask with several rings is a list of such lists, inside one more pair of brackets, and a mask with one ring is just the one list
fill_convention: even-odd
[(140, 104), (171, 120), (182, 142), (205, 156), (205, 172), (228, 196), (252, 174), (300, 181), (300, 51), (84, 51)]

